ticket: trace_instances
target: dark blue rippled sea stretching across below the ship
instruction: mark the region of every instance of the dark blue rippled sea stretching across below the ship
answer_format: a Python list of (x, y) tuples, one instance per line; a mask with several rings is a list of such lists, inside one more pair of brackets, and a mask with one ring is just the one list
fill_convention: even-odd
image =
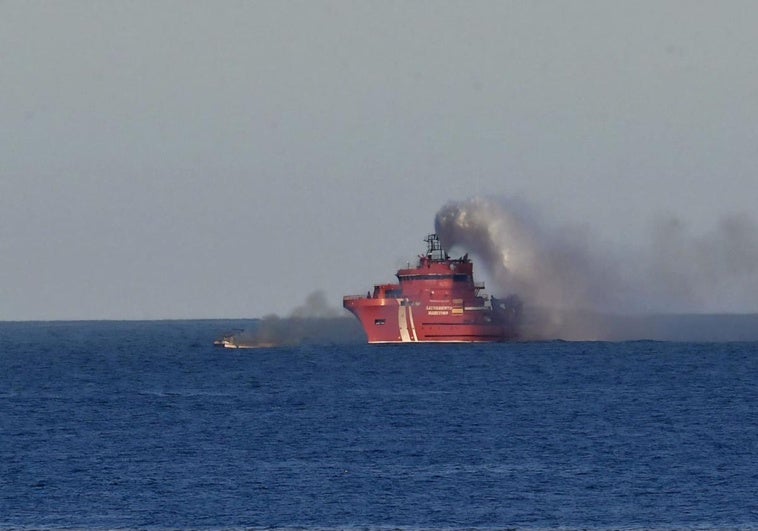
[(0, 527), (758, 527), (758, 344), (0, 323)]

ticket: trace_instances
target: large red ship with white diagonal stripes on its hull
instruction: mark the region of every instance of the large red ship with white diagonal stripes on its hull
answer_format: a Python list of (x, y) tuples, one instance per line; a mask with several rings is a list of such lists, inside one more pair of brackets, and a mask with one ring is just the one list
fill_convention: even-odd
[(436, 234), (424, 240), (418, 265), (397, 272), (397, 284), (378, 284), (342, 305), (361, 322), (369, 343), (493, 342), (518, 337), (521, 302), (484, 295), (465, 255), (452, 259)]

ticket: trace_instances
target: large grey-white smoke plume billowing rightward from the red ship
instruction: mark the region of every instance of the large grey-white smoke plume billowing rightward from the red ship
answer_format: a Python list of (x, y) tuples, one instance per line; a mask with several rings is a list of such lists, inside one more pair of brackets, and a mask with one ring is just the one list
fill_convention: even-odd
[(450, 202), (435, 227), (446, 249), (480, 259), (491, 292), (521, 297), (531, 315), (527, 335), (602, 339), (614, 328), (609, 315), (758, 309), (758, 230), (745, 215), (704, 235), (661, 218), (646, 246), (631, 250), (601, 242), (588, 227), (551, 225), (509, 198)]

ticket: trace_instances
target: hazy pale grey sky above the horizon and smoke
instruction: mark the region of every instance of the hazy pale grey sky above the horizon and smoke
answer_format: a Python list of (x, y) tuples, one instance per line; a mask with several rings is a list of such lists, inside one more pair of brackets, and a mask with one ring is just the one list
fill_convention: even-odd
[(758, 201), (758, 3), (0, 2), (0, 319), (338, 306), (435, 213)]

